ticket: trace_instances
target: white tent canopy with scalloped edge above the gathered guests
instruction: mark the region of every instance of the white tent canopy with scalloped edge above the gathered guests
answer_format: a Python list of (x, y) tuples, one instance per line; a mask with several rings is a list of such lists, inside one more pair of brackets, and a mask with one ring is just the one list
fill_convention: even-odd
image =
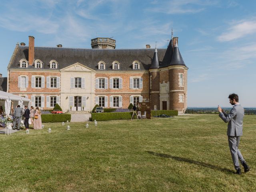
[(14, 108), (16, 105), (20, 105), (21, 108), (26, 105), (30, 108), (30, 99), (0, 91), (0, 106), (4, 105), (6, 117), (10, 116), (12, 103)]

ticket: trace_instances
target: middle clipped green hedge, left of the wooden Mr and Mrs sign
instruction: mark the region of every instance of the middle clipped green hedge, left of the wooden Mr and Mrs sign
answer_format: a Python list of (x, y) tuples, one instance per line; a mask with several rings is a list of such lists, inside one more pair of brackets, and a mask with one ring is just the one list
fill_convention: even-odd
[(92, 121), (108, 121), (108, 120), (120, 120), (131, 119), (132, 112), (117, 112), (117, 113), (92, 113)]

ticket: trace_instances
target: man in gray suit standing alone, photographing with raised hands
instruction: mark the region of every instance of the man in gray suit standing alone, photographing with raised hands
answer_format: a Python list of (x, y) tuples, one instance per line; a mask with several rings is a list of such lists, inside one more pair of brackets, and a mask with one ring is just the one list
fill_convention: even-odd
[(220, 118), (222, 118), (224, 122), (228, 122), (227, 135), (230, 153), (232, 156), (234, 167), (236, 169), (236, 174), (240, 175), (241, 170), (238, 159), (244, 166), (244, 172), (248, 172), (250, 170), (250, 167), (246, 164), (246, 161), (244, 160), (240, 150), (238, 149), (240, 137), (243, 134), (244, 108), (238, 103), (237, 94), (230, 94), (228, 98), (230, 104), (234, 105), (234, 107), (230, 110), (230, 113), (227, 114), (220, 106), (218, 106), (218, 111), (220, 112)]

